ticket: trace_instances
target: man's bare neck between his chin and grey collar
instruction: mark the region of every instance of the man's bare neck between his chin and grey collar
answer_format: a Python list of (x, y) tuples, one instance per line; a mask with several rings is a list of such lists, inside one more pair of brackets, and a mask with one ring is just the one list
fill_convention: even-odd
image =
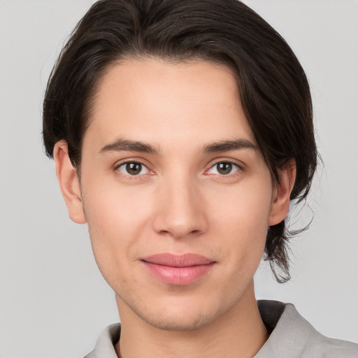
[(117, 298), (121, 316), (118, 357), (196, 358), (254, 357), (268, 338), (259, 314), (253, 282), (226, 313), (194, 331), (166, 331), (152, 327)]

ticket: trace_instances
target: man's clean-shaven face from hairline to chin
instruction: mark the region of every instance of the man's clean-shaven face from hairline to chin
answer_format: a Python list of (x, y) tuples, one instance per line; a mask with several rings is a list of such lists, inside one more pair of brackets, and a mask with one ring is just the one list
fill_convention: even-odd
[(268, 225), (286, 214), (233, 74), (209, 62), (113, 66), (80, 170), (69, 213), (87, 221), (120, 314), (162, 329), (202, 327), (237, 306)]

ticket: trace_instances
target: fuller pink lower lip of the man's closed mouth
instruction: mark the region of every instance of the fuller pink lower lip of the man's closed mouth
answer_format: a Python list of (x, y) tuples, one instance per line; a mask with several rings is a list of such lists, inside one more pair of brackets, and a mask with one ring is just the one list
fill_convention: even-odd
[(190, 283), (199, 280), (203, 275), (206, 275), (215, 262), (187, 267), (164, 266), (145, 261), (143, 261), (143, 264), (150, 273), (164, 283), (169, 283), (171, 285), (189, 285)]

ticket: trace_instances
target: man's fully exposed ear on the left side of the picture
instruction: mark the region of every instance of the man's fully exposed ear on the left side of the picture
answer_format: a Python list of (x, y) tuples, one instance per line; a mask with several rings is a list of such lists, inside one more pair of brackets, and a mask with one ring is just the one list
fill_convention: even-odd
[(69, 158), (69, 148), (66, 141), (59, 141), (55, 144), (53, 157), (59, 187), (61, 188), (62, 196), (64, 196), (69, 217), (77, 224), (85, 224), (86, 218), (83, 210), (80, 181)]

